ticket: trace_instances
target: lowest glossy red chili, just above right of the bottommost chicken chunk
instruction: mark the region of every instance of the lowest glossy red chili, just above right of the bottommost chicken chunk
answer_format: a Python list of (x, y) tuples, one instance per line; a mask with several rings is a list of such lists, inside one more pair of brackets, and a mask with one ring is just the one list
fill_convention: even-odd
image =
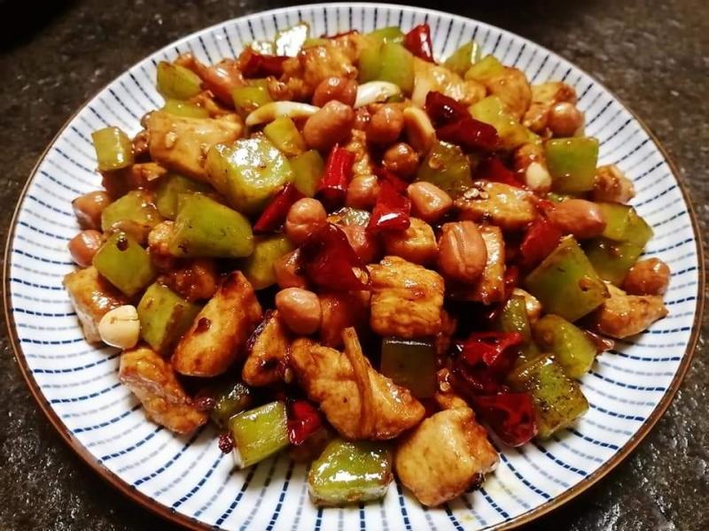
[(528, 393), (475, 396), (472, 403), (505, 444), (521, 446), (537, 435), (534, 402)]

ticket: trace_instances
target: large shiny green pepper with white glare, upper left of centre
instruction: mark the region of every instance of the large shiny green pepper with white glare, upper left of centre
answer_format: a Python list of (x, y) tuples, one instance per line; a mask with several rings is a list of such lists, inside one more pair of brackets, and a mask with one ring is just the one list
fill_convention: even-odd
[(288, 159), (265, 138), (217, 144), (206, 155), (215, 189), (246, 215), (261, 212), (286, 182), (293, 180)]

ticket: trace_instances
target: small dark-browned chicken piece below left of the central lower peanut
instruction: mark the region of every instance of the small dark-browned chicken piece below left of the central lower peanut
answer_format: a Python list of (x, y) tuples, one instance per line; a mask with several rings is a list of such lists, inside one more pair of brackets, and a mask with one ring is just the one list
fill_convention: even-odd
[(291, 341), (278, 312), (267, 312), (246, 345), (249, 355), (241, 378), (252, 387), (283, 381)]

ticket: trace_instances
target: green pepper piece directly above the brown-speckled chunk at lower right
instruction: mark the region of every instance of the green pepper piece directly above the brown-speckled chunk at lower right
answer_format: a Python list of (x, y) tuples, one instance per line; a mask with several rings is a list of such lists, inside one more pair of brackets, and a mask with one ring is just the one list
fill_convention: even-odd
[(580, 378), (596, 359), (596, 345), (578, 327), (558, 315), (545, 315), (533, 325), (534, 340), (565, 373)]

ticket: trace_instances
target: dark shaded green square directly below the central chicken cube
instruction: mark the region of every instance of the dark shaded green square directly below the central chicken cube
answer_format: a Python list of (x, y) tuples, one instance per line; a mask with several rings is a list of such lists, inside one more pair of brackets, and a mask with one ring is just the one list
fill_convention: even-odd
[(385, 337), (382, 340), (380, 372), (417, 398), (436, 392), (436, 351), (432, 340)]

